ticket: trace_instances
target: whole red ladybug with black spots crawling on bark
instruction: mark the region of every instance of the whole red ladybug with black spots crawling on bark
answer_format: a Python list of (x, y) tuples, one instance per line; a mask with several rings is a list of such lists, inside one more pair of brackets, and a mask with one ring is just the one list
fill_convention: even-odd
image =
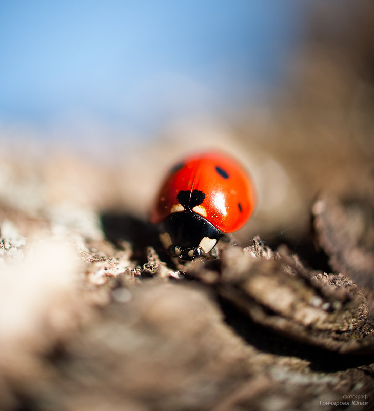
[(167, 174), (150, 223), (181, 261), (208, 257), (223, 234), (237, 231), (252, 215), (256, 195), (244, 168), (229, 156), (206, 152), (188, 156)]

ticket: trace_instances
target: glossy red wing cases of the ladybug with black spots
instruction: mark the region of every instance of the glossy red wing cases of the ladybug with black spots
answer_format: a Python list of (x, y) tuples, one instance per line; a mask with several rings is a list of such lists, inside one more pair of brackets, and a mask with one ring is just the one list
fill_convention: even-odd
[(255, 208), (254, 186), (244, 168), (226, 154), (207, 152), (189, 156), (170, 170), (156, 197), (150, 222), (157, 224), (171, 213), (183, 211), (178, 194), (194, 190), (205, 197), (192, 212), (224, 233), (243, 227)]

